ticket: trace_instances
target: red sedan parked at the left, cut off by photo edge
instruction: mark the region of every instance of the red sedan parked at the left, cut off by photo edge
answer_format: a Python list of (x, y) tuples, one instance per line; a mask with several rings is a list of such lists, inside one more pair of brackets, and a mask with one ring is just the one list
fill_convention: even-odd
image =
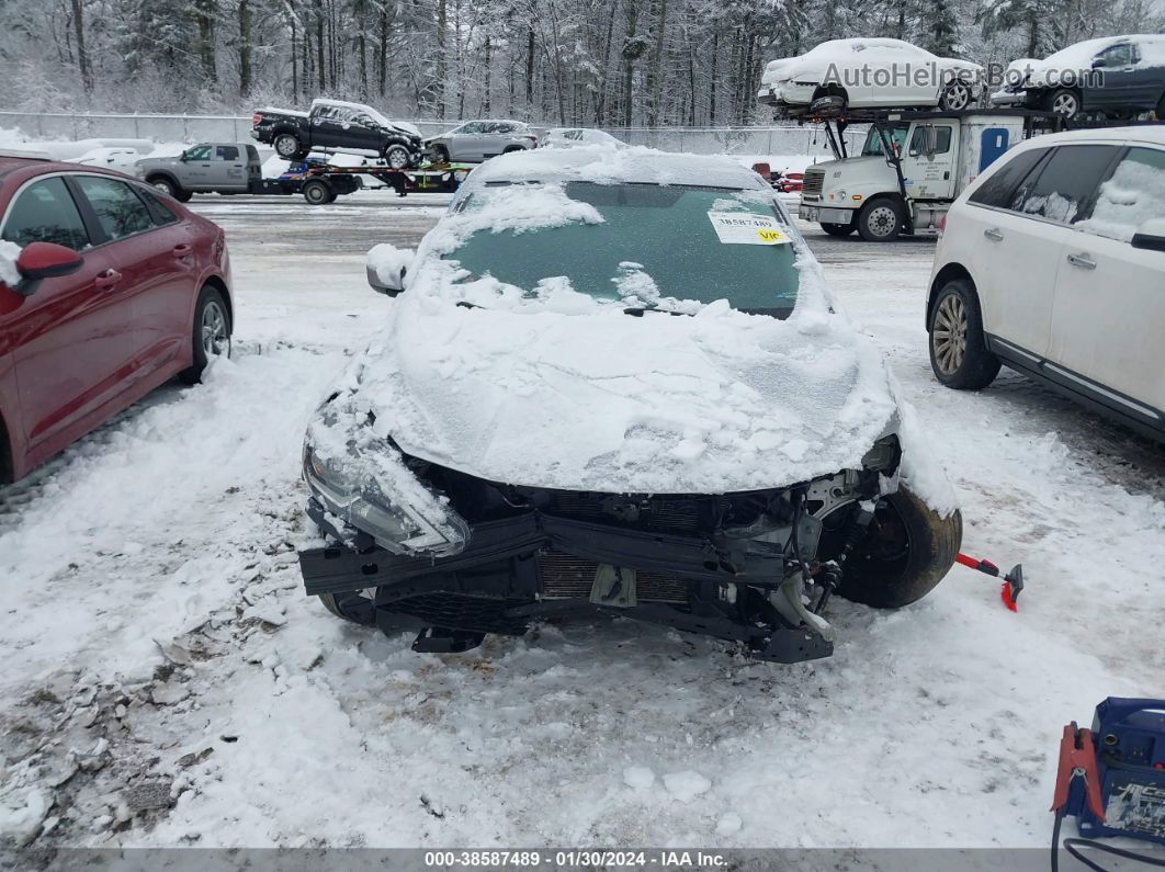
[(0, 482), (231, 348), (226, 235), (119, 172), (0, 153)]

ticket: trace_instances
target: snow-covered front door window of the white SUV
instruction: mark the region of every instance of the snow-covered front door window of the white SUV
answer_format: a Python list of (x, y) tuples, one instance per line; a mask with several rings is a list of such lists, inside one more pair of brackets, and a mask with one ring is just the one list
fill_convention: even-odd
[(1165, 218), (1165, 200), (1157, 193), (1163, 178), (1165, 149), (1130, 148), (1100, 186), (1092, 214), (1076, 228), (1131, 241), (1142, 224)]

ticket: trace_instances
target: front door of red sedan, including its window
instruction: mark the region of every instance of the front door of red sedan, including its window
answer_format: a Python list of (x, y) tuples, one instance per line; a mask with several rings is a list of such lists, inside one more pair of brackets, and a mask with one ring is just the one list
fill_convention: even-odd
[(56, 242), (84, 255), (79, 270), (47, 278), (0, 310), (0, 335), (12, 355), (24, 454), (34, 465), (90, 430), (116, 395), (128, 361), (129, 300), (125, 276), (93, 247), (75, 191), (64, 176), (27, 184), (13, 199), (0, 238), (26, 246)]

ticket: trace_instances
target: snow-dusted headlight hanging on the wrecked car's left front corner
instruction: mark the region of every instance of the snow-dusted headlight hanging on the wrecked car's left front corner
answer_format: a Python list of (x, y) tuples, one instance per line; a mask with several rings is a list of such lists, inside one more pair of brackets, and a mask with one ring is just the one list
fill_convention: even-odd
[(330, 460), (304, 445), (303, 476), (324, 509), (387, 551), (435, 556), (461, 551), (469, 538), (465, 520), (417, 480), (393, 447), (386, 445), (377, 461), (374, 474), (358, 459)]

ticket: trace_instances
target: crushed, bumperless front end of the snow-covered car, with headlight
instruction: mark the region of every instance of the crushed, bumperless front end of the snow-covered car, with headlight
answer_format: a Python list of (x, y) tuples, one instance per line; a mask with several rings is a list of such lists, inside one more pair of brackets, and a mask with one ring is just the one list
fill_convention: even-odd
[(417, 651), (612, 615), (786, 664), (832, 654), (818, 612), (901, 455), (888, 435), (861, 469), (771, 490), (652, 495), (508, 485), (375, 442), (355, 467), (324, 459), (310, 437), (304, 453), (308, 513), (325, 544), (299, 562), (306, 593), (333, 611), (416, 631)]

